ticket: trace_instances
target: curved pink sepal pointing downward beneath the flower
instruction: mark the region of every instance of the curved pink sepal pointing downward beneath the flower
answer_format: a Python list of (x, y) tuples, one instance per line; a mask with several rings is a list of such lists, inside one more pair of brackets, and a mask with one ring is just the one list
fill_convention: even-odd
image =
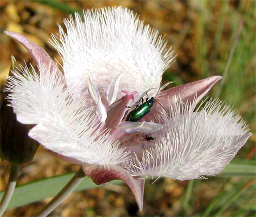
[(129, 172), (120, 166), (107, 165), (83, 165), (83, 172), (96, 184), (103, 184), (112, 180), (122, 180), (132, 190), (136, 199), (139, 211), (143, 207), (144, 179), (133, 178)]

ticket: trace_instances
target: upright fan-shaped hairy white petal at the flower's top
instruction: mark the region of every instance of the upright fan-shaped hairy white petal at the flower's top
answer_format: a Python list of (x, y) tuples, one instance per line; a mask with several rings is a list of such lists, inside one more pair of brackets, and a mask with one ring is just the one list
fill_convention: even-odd
[(59, 35), (52, 36), (51, 44), (62, 56), (74, 95), (86, 87), (88, 75), (100, 92), (106, 92), (119, 73), (125, 75), (120, 81), (123, 90), (142, 94), (159, 87), (163, 72), (174, 61), (158, 31), (127, 8), (91, 9), (82, 16), (75, 13), (64, 24), (67, 33), (59, 26)]

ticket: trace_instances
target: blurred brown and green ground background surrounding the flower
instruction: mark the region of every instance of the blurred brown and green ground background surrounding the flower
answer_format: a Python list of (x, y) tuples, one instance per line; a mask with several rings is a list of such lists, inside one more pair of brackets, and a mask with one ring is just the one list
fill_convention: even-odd
[[(253, 136), (239, 151), (239, 163), (255, 160), (256, 120), (256, 1), (0, 1), (1, 85), (9, 72), (11, 55), (17, 62), (28, 63), (27, 50), (3, 31), (26, 36), (61, 63), (60, 56), (48, 43), (57, 34), (63, 18), (75, 10), (122, 6), (134, 10), (145, 24), (165, 35), (173, 46), (176, 61), (164, 74), (165, 81), (180, 85), (213, 75), (226, 75), (210, 95), (233, 105), (250, 124)], [(237, 40), (238, 27), (242, 31)], [(234, 53), (230, 56), (232, 48)], [(227, 65), (230, 56), (230, 65)], [(5, 136), (5, 135), (1, 135)], [(233, 162), (232, 161), (232, 162)], [(9, 163), (0, 163), (0, 190), (9, 177)], [(32, 162), (22, 165), (18, 184), (45, 177), (75, 172), (79, 165), (64, 163), (39, 146)], [(144, 208), (137, 211), (132, 192), (125, 184), (107, 185), (71, 194), (50, 216), (255, 216), (255, 177), (216, 176), (208, 180), (146, 181)], [(4, 216), (33, 216), (50, 201), (38, 201), (12, 208)]]

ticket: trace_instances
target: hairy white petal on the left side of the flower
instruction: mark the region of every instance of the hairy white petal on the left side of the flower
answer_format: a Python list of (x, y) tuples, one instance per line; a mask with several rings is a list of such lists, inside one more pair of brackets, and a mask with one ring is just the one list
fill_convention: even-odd
[(73, 99), (60, 72), (39, 65), (21, 67), (9, 77), (8, 99), (23, 124), (36, 124), (29, 136), (57, 154), (91, 164), (118, 164), (128, 159), (97, 116), (87, 108), (86, 99)]

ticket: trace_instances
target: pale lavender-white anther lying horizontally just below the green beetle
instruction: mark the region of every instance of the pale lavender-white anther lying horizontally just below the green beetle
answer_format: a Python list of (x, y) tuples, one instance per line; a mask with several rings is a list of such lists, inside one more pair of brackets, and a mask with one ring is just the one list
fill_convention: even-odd
[(141, 122), (130, 122), (130, 121), (125, 121), (120, 125), (120, 129), (125, 132), (125, 133), (134, 133), (134, 132), (140, 132), (143, 134), (150, 134), (154, 133), (160, 129), (165, 127), (164, 124), (157, 124), (153, 122), (146, 122), (146, 121), (141, 121)]

